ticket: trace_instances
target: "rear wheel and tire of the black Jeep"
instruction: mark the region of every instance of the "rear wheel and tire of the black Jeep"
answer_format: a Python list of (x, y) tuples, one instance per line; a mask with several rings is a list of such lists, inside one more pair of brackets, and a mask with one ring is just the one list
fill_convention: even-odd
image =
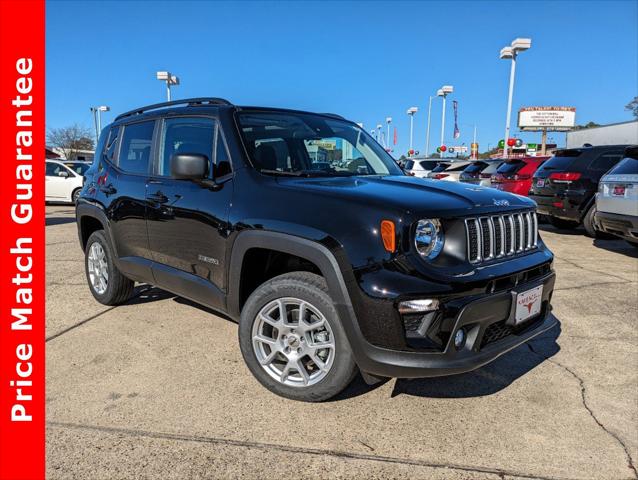
[(133, 296), (135, 282), (122, 275), (113, 259), (104, 230), (93, 232), (84, 249), (84, 269), (91, 293), (103, 305), (119, 305)]

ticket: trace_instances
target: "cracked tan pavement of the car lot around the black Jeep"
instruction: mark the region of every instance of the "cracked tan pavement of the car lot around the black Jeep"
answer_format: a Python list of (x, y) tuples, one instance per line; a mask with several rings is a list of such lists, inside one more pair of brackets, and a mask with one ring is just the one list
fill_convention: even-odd
[(156, 288), (105, 307), (74, 210), (48, 206), (49, 478), (638, 478), (638, 249), (556, 255), (555, 328), (464, 375), (274, 396), (233, 322)]

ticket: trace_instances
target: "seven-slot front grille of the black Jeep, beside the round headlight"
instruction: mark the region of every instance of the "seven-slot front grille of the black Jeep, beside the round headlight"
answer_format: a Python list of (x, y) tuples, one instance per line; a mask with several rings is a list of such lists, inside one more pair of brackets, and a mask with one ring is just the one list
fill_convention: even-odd
[(505, 258), (538, 245), (536, 212), (465, 219), (467, 256), (471, 263)]

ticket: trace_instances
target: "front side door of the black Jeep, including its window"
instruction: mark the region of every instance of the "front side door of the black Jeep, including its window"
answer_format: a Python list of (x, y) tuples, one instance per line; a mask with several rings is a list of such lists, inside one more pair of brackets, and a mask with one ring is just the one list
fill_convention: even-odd
[[(206, 155), (209, 181), (172, 178), (171, 157), (176, 153)], [(153, 274), (158, 285), (213, 307), (223, 306), (226, 289), (227, 221), (233, 189), (228, 165), (226, 145), (214, 118), (163, 120), (146, 197)]]

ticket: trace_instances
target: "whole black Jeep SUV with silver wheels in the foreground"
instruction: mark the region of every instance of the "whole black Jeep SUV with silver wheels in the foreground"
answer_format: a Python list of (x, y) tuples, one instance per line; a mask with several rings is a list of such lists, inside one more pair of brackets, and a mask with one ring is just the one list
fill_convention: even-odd
[(555, 323), (531, 200), (407, 176), (333, 114), (216, 98), (124, 113), (76, 215), (98, 301), (145, 282), (224, 312), (288, 398), (328, 399), (357, 371), (466, 372)]

